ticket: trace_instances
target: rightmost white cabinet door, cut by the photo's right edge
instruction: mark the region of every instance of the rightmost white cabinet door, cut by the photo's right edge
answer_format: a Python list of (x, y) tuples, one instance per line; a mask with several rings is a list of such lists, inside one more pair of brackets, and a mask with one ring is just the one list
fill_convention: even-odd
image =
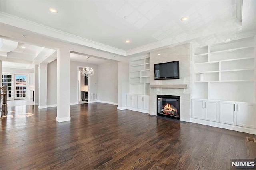
[(236, 125), (255, 127), (255, 106), (252, 103), (236, 103)]

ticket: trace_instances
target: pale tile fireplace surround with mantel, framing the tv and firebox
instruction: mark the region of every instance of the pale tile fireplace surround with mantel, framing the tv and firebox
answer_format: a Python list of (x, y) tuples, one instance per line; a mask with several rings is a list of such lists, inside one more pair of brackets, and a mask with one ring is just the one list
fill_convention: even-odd
[[(158, 55), (160, 54), (160, 55)], [(154, 80), (154, 64), (180, 61), (180, 79)], [(190, 43), (150, 53), (150, 115), (156, 115), (156, 95), (180, 96), (180, 120), (190, 122)]]

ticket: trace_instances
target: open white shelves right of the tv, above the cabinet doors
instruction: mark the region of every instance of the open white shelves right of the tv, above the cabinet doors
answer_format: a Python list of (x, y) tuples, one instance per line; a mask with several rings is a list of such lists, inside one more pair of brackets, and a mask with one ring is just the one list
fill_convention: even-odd
[(252, 36), (195, 48), (192, 99), (254, 103), (255, 42)]

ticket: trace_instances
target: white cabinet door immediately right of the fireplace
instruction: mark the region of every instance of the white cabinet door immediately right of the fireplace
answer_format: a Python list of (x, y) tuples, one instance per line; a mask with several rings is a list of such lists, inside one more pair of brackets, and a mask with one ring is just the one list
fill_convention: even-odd
[(192, 118), (204, 119), (204, 100), (192, 100)]

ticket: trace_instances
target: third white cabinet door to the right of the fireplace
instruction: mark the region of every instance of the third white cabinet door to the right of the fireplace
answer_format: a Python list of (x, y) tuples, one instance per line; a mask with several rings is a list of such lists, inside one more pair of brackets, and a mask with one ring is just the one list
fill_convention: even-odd
[(236, 125), (236, 103), (220, 101), (220, 123)]

